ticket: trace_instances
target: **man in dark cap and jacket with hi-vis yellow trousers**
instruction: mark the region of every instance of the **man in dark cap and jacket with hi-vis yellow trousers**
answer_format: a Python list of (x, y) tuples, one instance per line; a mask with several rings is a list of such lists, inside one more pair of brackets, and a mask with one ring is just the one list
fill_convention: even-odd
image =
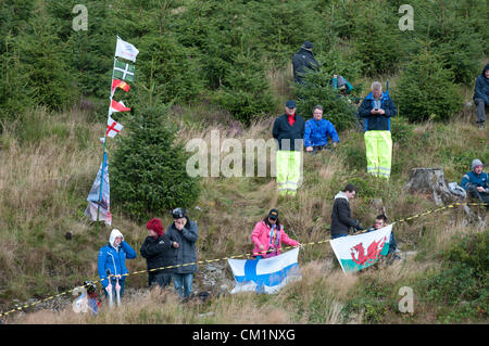
[(304, 137), (304, 118), (296, 114), (296, 101), (286, 103), (286, 114), (277, 117), (272, 130), (278, 141), (276, 156), (277, 187), (280, 195), (297, 194), (302, 167), (302, 139)]

